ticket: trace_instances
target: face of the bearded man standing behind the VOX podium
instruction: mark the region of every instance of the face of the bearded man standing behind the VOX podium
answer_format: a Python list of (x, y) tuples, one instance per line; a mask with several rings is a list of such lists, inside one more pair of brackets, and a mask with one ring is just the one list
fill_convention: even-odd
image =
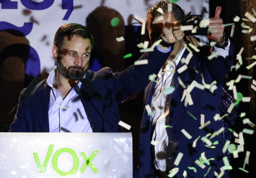
[(89, 38), (66, 36), (57, 52), (58, 72), (69, 80), (80, 80), (88, 68), (90, 53)]

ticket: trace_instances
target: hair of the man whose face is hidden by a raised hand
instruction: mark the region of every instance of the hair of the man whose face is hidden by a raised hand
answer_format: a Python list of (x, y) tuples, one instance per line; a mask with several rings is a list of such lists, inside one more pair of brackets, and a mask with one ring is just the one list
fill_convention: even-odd
[[(160, 12), (157, 11), (157, 9), (160, 7), (163, 10), (163, 13), (167, 13), (168, 11), (168, 4), (171, 3), (170, 1), (158, 1), (157, 3), (155, 3), (151, 8), (149, 8), (147, 10), (147, 14), (146, 14), (146, 19), (148, 19), (148, 17), (150, 15), (153, 15), (153, 17), (159, 17), (162, 14)], [(173, 16), (174, 18), (179, 21), (182, 25), (185, 25), (185, 13), (182, 10), (182, 8), (174, 3), (172, 4), (172, 12), (173, 12)]]

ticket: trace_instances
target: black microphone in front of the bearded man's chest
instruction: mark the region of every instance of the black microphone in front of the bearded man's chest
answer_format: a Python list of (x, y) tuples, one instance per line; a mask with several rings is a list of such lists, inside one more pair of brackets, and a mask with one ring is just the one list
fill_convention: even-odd
[(87, 81), (86, 78), (82, 78), (80, 79), (81, 83), (84, 85), (84, 87), (91, 93), (91, 95), (93, 95), (93, 97), (96, 99), (96, 100), (100, 100), (102, 101), (102, 103), (109, 108), (109, 110), (111, 110), (111, 112), (115, 115), (115, 117), (117, 118), (117, 121), (119, 121), (119, 117), (118, 115), (111, 109), (111, 107), (106, 104), (106, 102), (104, 102), (102, 100), (102, 96), (101, 94)]

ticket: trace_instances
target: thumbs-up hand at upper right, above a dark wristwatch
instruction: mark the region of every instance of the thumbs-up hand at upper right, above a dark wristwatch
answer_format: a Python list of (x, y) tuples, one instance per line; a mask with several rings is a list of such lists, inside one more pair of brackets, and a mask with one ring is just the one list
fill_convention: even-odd
[[(224, 39), (224, 27), (223, 19), (219, 17), (221, 14), (222, 7), (218, 6), (215, 11), (215, 17), (210, 18), (210, 23), (208, 25), (210, 36), (213, 38), (213, 41), (220, 43)], [(220, 44), (221, 45), (221, 44)]]

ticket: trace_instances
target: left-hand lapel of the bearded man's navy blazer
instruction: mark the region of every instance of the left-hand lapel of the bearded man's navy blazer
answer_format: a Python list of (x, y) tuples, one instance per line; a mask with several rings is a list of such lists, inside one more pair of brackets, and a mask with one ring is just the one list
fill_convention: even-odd
[(50, 101), (50, 88), (46, 86), (38, 90), (37, 106), (38, 106), (38, 118), (42, 132), (49, 132), (49, 101)]

